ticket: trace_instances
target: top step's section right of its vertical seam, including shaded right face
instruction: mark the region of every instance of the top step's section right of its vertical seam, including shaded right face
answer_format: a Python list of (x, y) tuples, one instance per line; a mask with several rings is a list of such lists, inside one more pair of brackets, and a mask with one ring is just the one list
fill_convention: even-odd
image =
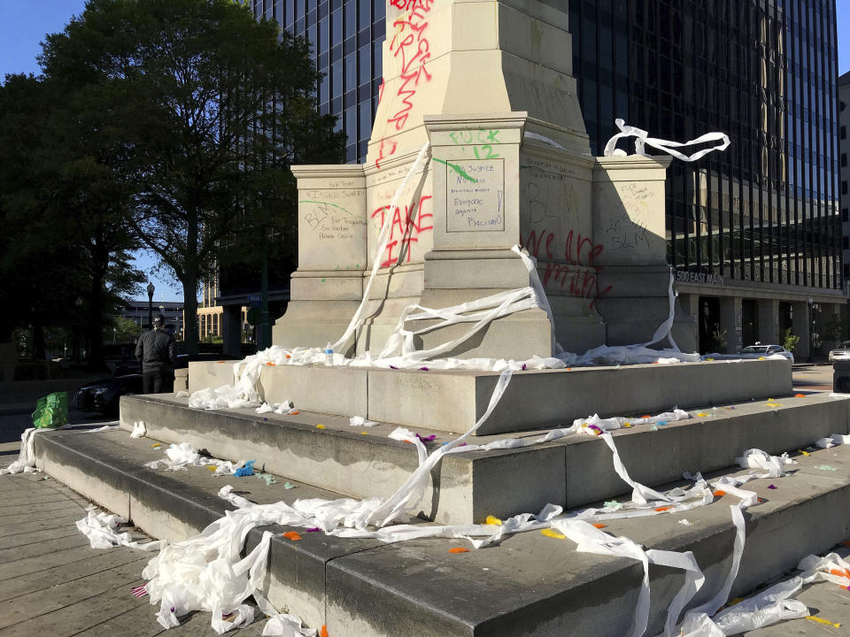
[[(369, 418), (464, 432), (487, 409), (498, 374), (369, 371)], [(787, 360), (576, 367), (516, 372), (479, 435), (568, 426), (590, 414), (658, 413), (792, 393)]]

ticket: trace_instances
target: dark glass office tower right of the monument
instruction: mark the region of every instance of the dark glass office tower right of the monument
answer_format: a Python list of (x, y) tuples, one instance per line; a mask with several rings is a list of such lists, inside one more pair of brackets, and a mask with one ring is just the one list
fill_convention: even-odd
[(730, 135), (674, 161), (668, 260), (724, 279), (841, 289), (834, 0), (570, 2), (591, 150), (622, 117)]

